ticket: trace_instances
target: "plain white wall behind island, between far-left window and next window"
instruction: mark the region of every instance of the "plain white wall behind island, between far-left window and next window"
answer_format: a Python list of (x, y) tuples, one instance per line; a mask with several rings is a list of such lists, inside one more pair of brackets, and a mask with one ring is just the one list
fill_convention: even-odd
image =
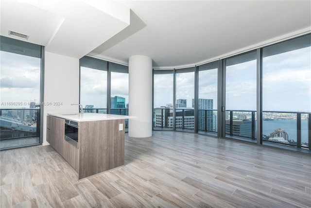
[(46, 141), (47, 113), (77, 113), (78, 106), (70, 104), (79, 104), (79, 59), (45, 52), (43, 145), (49, 144)]

